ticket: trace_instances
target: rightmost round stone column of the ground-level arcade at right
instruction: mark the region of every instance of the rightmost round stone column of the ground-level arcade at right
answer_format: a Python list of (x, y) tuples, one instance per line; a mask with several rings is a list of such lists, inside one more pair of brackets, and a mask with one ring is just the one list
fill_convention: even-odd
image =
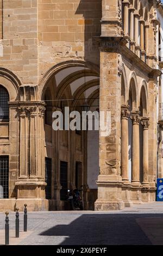
[(148, 127), (149, 119), (142, 118), (143, 125), (143, 185), (148, 184)]

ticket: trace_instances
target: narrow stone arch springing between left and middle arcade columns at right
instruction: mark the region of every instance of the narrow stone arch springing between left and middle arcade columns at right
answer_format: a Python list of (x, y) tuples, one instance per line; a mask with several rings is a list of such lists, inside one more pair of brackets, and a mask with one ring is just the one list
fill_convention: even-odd
[(137, 86), (137, 79), (136, 74), (133, 71), (129, 76), (129, 83), (128, 83), (128, 100), (129, 100), (129, 93), (131, 90), (131, 97), (132, 97), (132, 108), (133, 110), (137, 109), (137, 101), (138, 101), (138, 86)]

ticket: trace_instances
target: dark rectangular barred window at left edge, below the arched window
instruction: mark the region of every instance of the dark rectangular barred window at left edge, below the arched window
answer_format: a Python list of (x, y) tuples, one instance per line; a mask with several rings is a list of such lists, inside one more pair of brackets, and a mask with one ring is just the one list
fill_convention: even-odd
[(0, 198), (9, 198), (9, 156), (0, 156)]

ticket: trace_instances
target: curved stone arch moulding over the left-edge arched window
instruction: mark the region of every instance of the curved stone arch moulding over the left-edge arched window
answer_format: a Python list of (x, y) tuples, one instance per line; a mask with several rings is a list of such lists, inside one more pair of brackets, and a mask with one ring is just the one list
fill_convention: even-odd
[(11, 70), (0, 67), (0, 84), (8, 90), (10, 101), (19, 100), (21, 81)]

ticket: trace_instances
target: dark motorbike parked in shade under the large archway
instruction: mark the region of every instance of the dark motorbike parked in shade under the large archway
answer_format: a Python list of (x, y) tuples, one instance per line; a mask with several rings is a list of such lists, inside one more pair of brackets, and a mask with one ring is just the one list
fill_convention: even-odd
[[(80, 188), (82, 188), (81, 186)], [(82, 198), (80, 197), (80, 191), (82, 189), (74, 189), (74, 190), (68, 190), (68, 200), (71, 204), (72, 210), (83, 210), (83, 202)]]

